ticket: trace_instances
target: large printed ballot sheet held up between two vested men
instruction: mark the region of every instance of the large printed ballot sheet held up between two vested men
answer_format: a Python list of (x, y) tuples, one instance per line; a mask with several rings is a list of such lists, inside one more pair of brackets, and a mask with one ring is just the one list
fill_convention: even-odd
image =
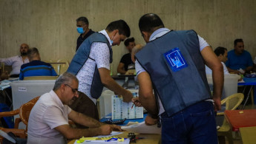
[[(137, 97), (137, 92), (133, 93), (134, 97)], [(143, 118), (143, 107), (133, 106), (134, 103), (125, 103), (122, 101), (122, 97), (112, 95), (112, 120), (118, 119), (137, 119)]]

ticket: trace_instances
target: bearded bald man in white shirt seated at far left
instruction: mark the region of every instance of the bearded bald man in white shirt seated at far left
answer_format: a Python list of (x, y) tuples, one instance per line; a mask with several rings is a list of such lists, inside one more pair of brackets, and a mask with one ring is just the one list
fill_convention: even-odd
[(0, 62), (4, 63), (7, 66), (12, 66), (12, 71), (10, 72), (10, 78), (19, 78), (19, 71), (22, 64), (27, 64), (27, 50), (29, 49), (27, 44), (22, 44), (19, 48), (21, 55), (16, 55), (10, 58), (0, 58)]

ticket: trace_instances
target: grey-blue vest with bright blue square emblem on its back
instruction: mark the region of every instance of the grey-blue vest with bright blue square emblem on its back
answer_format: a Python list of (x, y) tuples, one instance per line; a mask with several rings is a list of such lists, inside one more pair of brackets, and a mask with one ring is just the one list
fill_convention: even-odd
[(211, 98), (197, 33), (171, 31), (149, 42), (136, 54), (151, 77), (165, 112), (171, 116)]

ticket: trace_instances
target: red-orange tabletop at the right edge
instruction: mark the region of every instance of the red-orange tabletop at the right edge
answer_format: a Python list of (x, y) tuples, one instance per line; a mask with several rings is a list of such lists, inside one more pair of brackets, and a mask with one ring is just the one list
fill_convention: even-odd
[(256, 126), (256, 109), (226, 110), (224, 115), (232, 127), (232, 131), (239, 131), (243, 127)]

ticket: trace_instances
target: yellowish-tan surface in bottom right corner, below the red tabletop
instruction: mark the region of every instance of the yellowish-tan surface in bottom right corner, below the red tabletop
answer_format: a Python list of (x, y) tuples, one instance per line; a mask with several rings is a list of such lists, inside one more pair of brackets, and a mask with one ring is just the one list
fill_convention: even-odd
[(240, 128), (240, 134), (243, 144), (255, 144), (256, 142), (256, 126)]

